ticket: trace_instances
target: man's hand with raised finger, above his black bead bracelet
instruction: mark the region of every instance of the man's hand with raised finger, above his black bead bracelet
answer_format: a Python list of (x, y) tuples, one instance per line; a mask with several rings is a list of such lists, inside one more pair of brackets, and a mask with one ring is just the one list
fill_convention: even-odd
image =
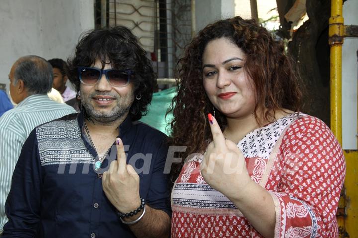
[(109, 201), (121, 213), (137, 209), (140, 204), (139, 176), (134, 168), (127, 164), (123, 142), (116, 139), (117, 160), (111, 162), (108, 171), (103, 173), (103, 190)]

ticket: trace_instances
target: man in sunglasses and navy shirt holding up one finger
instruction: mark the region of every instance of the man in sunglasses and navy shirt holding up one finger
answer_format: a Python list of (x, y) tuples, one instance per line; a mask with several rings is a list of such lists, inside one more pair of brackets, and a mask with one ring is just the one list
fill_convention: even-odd
[(168, 237), (166, 137), (137, 122), (155, 86), (146, 52), (117, 26), (83, 35), (68, 63), (80, 113), (25, 142), (3, 237)]

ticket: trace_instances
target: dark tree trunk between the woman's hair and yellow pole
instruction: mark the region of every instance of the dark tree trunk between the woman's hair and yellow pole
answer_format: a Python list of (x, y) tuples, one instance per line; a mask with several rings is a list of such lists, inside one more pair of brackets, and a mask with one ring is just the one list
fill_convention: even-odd
[[(309, 20), (294, 32), (292, 41), (288, 44), (288, 52), (297, 64), (305, 88), (302, 111), (322, 119), (327, 125), (330, 124), (330, 7), (330, 0), (307, 0), (306, 11)], [(286, 9), (285, 13), (288, 10)]]

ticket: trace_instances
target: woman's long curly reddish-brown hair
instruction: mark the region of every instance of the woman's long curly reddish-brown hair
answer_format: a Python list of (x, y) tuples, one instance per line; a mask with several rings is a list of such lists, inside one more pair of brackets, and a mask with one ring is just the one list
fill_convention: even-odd
[[(170, 145), (187, 146), (176, 156), (181, 163), (172, 165), (172, 180), (176, 179), (184, 159), (192, 153), (203, 153), (211, 140), (207, 114), (213, 113), (213, 105), (203, 87), (202, 56), (208, 42), (225, 37), (246, 54), (244, 69), (253, 80), (256, 94), (255, 119), (273, 121), (275, 111), (301, 108), (299, 77), (293, 70), (291, 59), (285, 55), (282, 42), (277, 41), (255, 20), (234, 17), (206, 26), (187, 45), (184, 57), (178, 62), (177, 95), (169, 112), (173, 113)], [(257, 110), (257, 109), (266, 110)], [(258, 115), (258, 112), (260, 115)], [(226, 117), (216, 110), (221, 129), (227, 124)]]

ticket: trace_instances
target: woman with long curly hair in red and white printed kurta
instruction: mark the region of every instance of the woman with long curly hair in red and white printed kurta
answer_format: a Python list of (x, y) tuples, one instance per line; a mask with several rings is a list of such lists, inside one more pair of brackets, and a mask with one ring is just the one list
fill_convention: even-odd
[(186, 151), (172, 167), (172, 237), (338, 237), (342, 149), (300, 112), (283, 44), (254, 20), (221, 20), (178, 73), (170, 141)]

